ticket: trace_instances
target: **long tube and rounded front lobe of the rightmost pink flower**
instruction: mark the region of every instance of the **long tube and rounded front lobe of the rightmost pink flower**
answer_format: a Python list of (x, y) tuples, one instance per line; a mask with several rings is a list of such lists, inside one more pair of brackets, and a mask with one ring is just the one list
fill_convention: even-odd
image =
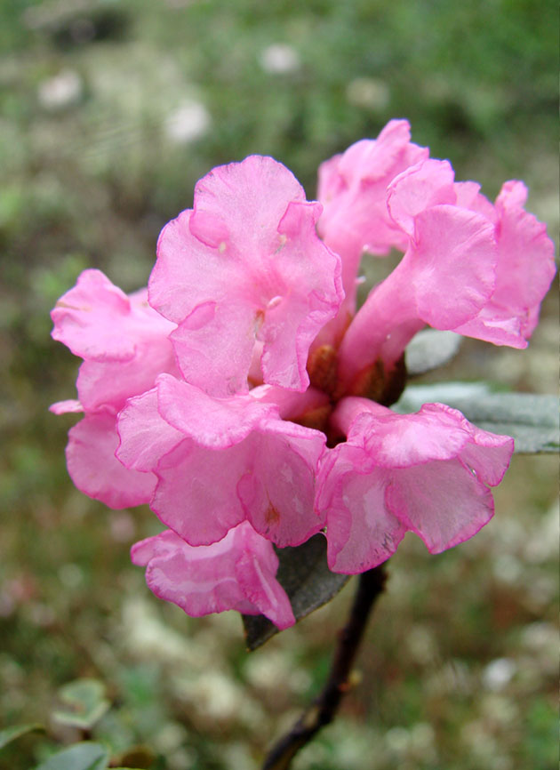
[(340, 381), (381, 358), (388, 369), (424, 324), (452, 329), (477, 313), (494, 288), (497, 250), (481, 214), (436, 205), (415, 219), (414, 239), (391, 275), (369, 294), (340, 343)]

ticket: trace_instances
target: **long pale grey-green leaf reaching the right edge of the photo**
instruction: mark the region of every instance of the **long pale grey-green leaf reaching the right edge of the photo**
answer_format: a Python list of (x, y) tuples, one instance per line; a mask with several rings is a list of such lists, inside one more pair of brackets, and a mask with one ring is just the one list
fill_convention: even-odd
[(484, 382), (446, 382), (412, 385), (393, 408), (416, 412), (435, 401), (459, 409), (478, 428), (514, 437), (516, 453), (556, 453), (560, 448), (556, 396), (500, 393)]

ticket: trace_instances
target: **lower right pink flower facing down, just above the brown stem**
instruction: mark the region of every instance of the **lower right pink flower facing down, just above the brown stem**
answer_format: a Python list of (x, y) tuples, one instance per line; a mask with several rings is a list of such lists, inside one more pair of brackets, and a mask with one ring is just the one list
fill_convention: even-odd
[(500, 484), (513, 438), (477, 429), (443, 404), (396, 414), (348, 397), (332, 419), (347, 440), (324, 461), (316, 505), (326, 512), (333, 572), (381, 564), (407, 530), (439, 553), (492, 518), (488, 487)]

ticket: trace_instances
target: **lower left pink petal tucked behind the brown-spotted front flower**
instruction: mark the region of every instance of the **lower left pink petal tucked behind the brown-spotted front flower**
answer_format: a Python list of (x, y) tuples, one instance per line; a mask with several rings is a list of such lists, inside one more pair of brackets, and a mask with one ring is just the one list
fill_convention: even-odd
[(77, 488), (109, 508), (120, 509), (148, 502), (156, 486), (152, 473), (124, 468), (115, 456), (116, 418), (88, 414), (68, 432), (68, 473)]

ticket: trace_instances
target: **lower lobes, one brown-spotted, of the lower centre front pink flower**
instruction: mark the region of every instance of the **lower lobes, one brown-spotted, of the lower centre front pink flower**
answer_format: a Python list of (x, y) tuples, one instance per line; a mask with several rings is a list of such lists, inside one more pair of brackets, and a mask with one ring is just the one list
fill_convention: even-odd
[(299, 545), (324, 523), (313, 507), (324, 441), (277, 419), (228, 448), (185, 439), (157, 466), (152, 509), (191, 545), (220, 540), (244, 518), (281, 547)]

